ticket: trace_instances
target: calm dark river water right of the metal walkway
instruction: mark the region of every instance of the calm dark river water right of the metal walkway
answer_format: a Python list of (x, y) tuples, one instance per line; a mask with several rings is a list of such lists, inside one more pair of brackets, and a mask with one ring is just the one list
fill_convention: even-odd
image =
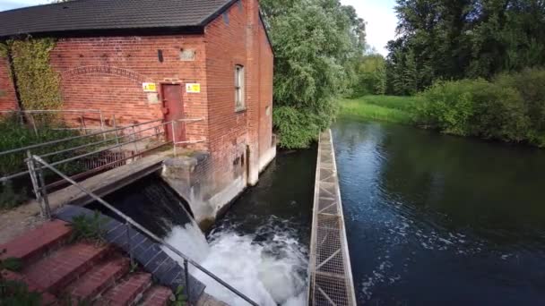
[(388, 123), (333, 141), (369, 305), (545, 305), (545, 151)]

